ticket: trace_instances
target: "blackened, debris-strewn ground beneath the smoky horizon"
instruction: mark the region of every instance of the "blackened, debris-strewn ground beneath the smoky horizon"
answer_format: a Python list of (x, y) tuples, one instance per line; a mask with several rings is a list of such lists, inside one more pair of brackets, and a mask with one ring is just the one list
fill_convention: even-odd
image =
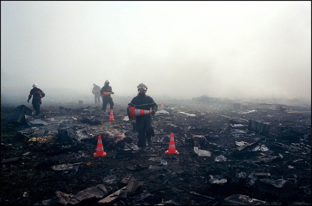
[[(311, 105), (164, 100), (142, 152), (129, 102), (115, 100), (113, 121), (93, 104), (43, 102), (39, 119), (2, 104), (1, 204), (311, 204)], [(134, 141), (95, 157), (107, 131)]]

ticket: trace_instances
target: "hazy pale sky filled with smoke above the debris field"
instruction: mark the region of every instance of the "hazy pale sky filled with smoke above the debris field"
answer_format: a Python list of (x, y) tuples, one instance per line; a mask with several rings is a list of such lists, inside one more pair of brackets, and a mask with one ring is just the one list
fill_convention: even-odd
[(2, 94), (106, 79), (121, 96), (311, 99), (311, 1), (1, 1)]

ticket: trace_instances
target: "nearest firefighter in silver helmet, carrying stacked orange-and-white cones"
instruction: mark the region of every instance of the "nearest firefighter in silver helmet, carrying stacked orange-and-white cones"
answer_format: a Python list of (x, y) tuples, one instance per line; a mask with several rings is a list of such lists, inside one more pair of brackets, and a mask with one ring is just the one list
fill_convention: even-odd
[[(128, 104), (129, 106), (135, 106), (135, 109), (141, 109), (141, 110), (150, 110), (152, 108), (154, 115), (157, 111), (157, 104), (154, 102), (153, 98), (146, 95), (147, 86), (144, 83), (140, 83), (138, 86), (138, 95), (135, 96), (132, 101)], [(129, 106), (127, 110), (129, 110)], [(141, 150), (143, 152), (146, 151), (146, 140), (148, 142), (149, 146), (152, 146), (152, 136), (154, 137), (154, 129), (153, 129), (153, 122), (152, 122), (152, 115), (142, 115), (142, 116), (136, 116), (136, 130), (139, 133), (139, 141), (138, 141), (138, 147), (141, 147)]]

